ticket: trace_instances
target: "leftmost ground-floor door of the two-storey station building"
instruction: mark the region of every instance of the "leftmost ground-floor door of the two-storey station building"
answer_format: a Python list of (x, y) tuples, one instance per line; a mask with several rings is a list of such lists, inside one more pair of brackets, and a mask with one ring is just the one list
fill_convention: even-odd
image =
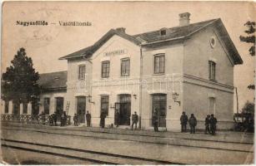
[(78, 115), (79, 123), (85, 122), (85, 109), (86, 109), (86, 97), (85, 96), (77, 97), (77, 115)]

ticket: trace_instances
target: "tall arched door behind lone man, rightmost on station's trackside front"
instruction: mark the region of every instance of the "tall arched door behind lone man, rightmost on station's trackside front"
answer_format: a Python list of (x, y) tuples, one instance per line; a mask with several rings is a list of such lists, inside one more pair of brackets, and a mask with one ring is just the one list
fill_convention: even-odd
[(166, 127), (166, 95), (165, 94), (152, 95), (152, 115), (154, 110), (157, 111), (157, 115), (158, 115), (158, 127)]

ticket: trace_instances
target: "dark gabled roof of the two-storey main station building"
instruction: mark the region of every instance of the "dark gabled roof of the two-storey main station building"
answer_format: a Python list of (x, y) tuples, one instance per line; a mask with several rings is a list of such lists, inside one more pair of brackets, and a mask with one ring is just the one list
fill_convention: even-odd
[(154, 42), (162, 42), (162, 41), (171, 41), (176, 39), (187, 39), (187, 37), (192, 36), (194, 33), (201, 31), (203, 28), (208, 26), (217, 26), (218, 31), (220, 32), (221, 38), (225, 42), (225, 45), (228, 48), (229, 54), (233, 58), (233, 62), (235, 65), (237, 64), (243, 64), (243, 60), (241, 56), (239, 56), (237, 49), (233, 45), (233, 41), (228, 35), (228, 32), (226, 28), (223, 26), (223, 22), (220, 18), (212, 19), (204, 22), (197, 22), (197, 23), (191, 23), (187, 26), (182, 27), (171, 27), (171, 28), (165, 28), (167, 30), (166, 35), (160, 35), (159, 31), (153, 31), (153, 32), (145, 32), (140, 33), (137, 35), (128, 35), (125, 32), (120, 32), (114, 29), (111, 29), (108, 31), (102, 38), (100, 38), (97, 42), (93, 44), (93, 46), (88, 46), (86, 48), (83, 48), (82, 50), (75, 51), (71, 54), (68, 54), (68, 56), (63, 56), (59, 58), (60, 60), (67, 60), (74, 57), (90, 57), (93, 55), (95, 51), (98, 50), (100, 46), (103, 46), (103, 44), (108, 41), (113, 35), (118, 35), (119, 37), (123, 37), (124, 39), (127, 39), (128, 41), (132, 41), (136, 45), (148, 45), (153, 44)]

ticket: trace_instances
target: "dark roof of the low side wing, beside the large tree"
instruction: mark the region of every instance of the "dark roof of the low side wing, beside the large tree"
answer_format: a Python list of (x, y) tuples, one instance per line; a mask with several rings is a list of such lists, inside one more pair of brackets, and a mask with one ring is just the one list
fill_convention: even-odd
[(43, 90), (62, 90), (67, 88), (68, 71), (43, 73), (39, 75), (38, 84)]

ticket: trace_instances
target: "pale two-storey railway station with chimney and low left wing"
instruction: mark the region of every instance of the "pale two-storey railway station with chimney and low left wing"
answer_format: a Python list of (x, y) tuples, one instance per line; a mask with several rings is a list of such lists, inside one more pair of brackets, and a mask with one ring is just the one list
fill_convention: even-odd
[[(136, 111), (142, 129), (153, 129), (153, 110), (160, 128), (180, 129), (180, 115), (194, 114), (198, 128), (206, 115), (214, 114), (218, 129), (233, 127), (233, 67), (243, 61), (220, 18), (190, 23), (188, 12), (179, 14), (178, 27), (128, 35), (125, 28), (111, 29), (82, 50), (63, 56), (68, 71), (40, 75), (43, 86), (38, 109), (20, 105), (18, 114), (92, 115), (99, 126), (131, 125)], [(8, 106), (7, 106), (8, 105)], [(66, 108), (68, 106), (68, 108)], [(12, 102), (3, 104), (3, 114), (13, 114)], [(8, 107), (8, 108), (7, 108)], [(17, 112), (17, 111), (15, 111)]]

